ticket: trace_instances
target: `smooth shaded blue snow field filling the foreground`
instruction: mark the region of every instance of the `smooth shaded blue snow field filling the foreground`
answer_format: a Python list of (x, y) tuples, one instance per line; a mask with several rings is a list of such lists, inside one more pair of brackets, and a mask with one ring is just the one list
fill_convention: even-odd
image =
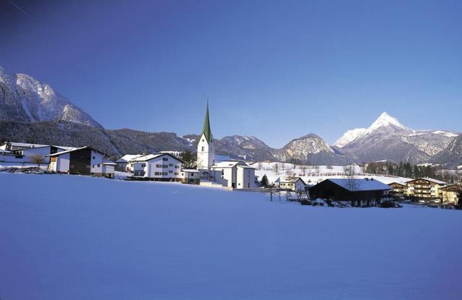
[(462, 214), (0, 173), (0, 299), (460, 299)]

